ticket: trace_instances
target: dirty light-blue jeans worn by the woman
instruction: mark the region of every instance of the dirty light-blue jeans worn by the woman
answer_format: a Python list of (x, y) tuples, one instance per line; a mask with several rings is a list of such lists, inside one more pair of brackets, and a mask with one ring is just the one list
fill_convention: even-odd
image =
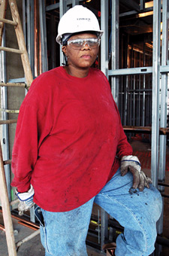
[[(148, 256), (154, 251), (156, 221), (161, 215), (161, 194), (150, 186), (130, 190), (133, 176), (116, 172), (101, 192), (83, 206), (69, 212), (41, 209), (41, 242), (45, 256), (87, 256), (88, 233), (93, 203), (97, 203), (124, 227), (116, 239), (116, 256)], [(130, 190), (130, 191), (129, 191)]]

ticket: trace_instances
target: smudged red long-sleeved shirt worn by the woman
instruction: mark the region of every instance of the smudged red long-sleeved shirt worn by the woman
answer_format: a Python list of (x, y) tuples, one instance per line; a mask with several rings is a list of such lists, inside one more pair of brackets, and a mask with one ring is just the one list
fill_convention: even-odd
[(20, 107), (11, 185), (24, 192), (31, 183), (42, 209), (69, 211), (98, 194), (129, 154), (104, 74), (76, 78), (59, 67), (33, 81)]

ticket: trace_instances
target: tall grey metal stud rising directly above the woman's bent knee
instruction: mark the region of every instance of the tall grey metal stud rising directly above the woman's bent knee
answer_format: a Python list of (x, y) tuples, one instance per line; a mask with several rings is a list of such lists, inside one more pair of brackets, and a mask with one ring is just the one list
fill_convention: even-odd
[(152, 52), (152, 184), (158, 184), (158, 139), (159, 139), (159, 84), (160, 84), (160, 23), (161, 0), (153, 2), (153, 52)]

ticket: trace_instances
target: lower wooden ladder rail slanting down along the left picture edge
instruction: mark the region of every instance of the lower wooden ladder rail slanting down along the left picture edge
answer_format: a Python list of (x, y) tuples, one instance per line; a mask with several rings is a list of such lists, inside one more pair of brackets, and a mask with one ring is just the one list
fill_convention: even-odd
[(5, 234), (8, 245), (8, 255), (17, 256), (17, 249), (14, 240), (14, 229), (11, 218), (10, 203), (8, 200), (8, 190), (5, 179), (5, 169), (2, 158), (2, 146), (0, 143), (0, 199), (2, 203), (2, 215), (5, 224)]

